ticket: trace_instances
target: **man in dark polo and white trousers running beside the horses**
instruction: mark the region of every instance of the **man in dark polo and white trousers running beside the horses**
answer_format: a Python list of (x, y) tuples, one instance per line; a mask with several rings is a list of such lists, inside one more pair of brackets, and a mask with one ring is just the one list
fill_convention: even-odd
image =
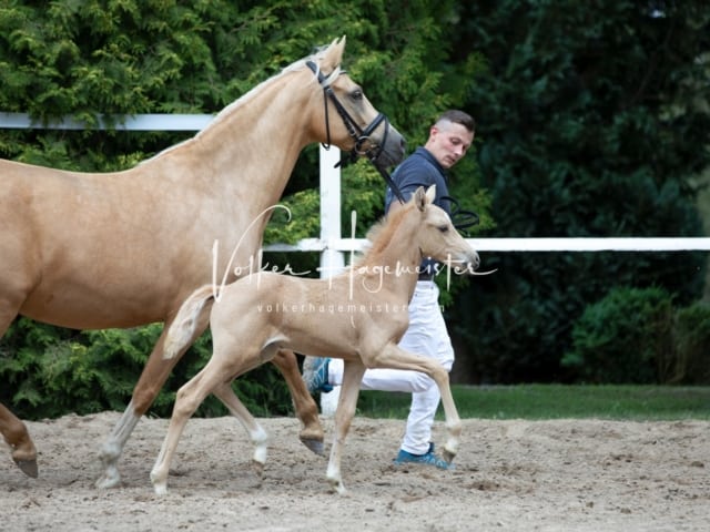
[[(446, 111), (437, 119), (429, 129), (426, 144), (417, 147), (392, 175), (405, 200), (419, 186), (427, 188), (436, 185), (434, 203), (450, 215), (445, 171), (466, 155), (474, 142), (475, 126), (474, 119), (463, 111)], [(399, 205), (392, 190), (387, 188), (385, 212)], [(399, 346), (410, 352), (435, 358), (450, 371), (454, 348), (438, 303), (439, 289), (433, 280), (435, 264), (424, 260), (419, 272), (419, 280), (409, 304), (409, 327)], [(306, 358), (303, 378), (311, 392), (331, 391), (333, 386), (343, 381), (343, 360)], [(395, 463), (414, 462), (448, 469), (449, 464), (435, 453), (432, 443), (432, 426), (440, 400), (433, 379), (418, 371), (368, 369), (361, 389), (412, 392), (407, 429)]]

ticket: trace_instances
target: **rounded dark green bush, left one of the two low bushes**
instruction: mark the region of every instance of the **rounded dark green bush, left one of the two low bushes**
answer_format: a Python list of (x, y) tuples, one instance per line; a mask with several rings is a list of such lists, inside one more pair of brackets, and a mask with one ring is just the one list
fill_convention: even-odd
[(572, 328), (561, 360), (591, 383), (665, 383), (671, 351), (671, 296), (661, 288), (612, 288)]

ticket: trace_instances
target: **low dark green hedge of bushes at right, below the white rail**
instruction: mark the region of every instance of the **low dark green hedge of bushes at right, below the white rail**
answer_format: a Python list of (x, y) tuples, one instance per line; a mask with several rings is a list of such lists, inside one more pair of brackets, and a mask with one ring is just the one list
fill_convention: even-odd
[(562, 366), (591, 383), (710, 383), (710, 305), (672, 299), (658, 287), (611, 289), (575, 323)]

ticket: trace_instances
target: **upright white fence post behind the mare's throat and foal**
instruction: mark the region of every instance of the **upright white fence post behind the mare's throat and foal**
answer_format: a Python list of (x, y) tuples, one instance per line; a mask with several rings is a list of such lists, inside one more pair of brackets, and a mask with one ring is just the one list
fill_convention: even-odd
[[(321, 252), (321, 277), (331, 277), (345, 267), (343, 252), (334, 249), (331, 244), (341, 239), (341, 168), (335, 165), (341, 161), (341, 151), (321, 145), (321, 239), (326, 248)], [(335, 415), (341, 387), (321, 393), (321, 412), (323, 416)]]

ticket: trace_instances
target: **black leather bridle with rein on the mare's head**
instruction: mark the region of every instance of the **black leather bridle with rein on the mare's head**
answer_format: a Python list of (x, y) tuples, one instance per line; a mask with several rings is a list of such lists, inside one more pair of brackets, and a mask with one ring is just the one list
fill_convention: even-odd
[[(389, 173), (387, 173), (387, 170), (378, 161), (379, 156), (383, 153), (383, 146), (387, 144), (387, 134), (389, 133), (389, 121), (387, 120), (387, 116), (385, 116), (383, 113), (378, 113), (377, 116), (375, 116), (375, 120), (373, 120), (369, 124), (367, 124), (365, 129), (362, 129), (357, 124), (357, 122), (353, 120), (353, 117), (349, 115), (349, 113), (343, 106), (343, 104), (338, 101), (337, 96), (335, 95), (335, 92), (333, 91), (333, 88), (327, 81), (329, 75), (323, 74), (318, 65), (315, 64), (313, 61), (306, 61), (306, 66), (308, 66), (311, 71), (317, 76), (318, 83), (323, 88), (323, 103), (325, 105), (325, 131), (326, 131), (326, 142), (323, 144), (323, 147), (325, 147), (326, 150), (329, 150), (331, 147), (331, 122), (328, 116), (328, 99), (329, 99), (331, 102), (333, 102), (333, 105), (335, 106), (337, 114), (341, 115), (341, 119), (343, 120), (343, 124), (345, 124), (345, 129), (347, 130), (347, 134), (351, 136), (351, 139), (353, 139), (353, 141), (355, 141), (355, 145), (353, 146), (353, 151), (351, 152), (351, 160), (355, 161), (358, 156), (367, 157), (369, 162), (373, 163), (373, 166), (377, 168), (377, 172), (379, 172), (379, 175), (383, 176), (387, 185), (389, 185), (389, 188), (392, 188), (392, 192), (395, 194), (395, 196), (397, 196), (397, 200), (399, 200), (399, 202), (402, 203), (405, 203), (402, 191), (399, 191), (399, 187), (392, 180), (392, 177), (389, 176)], [(345, 71), (341, 70), (341, 73), (345, 73)], [(372, 140), (369, 139), (369, 135), (372, 135), (372, 133), (381, 124), (384, 124), (385, 132), (384, 132), (382, 143), (376, 144), (372, 142)], [(369, 144), (367, 149), (364, 149), (365, 143)], [(337, 165), (341, 163), (338, 163)]]

